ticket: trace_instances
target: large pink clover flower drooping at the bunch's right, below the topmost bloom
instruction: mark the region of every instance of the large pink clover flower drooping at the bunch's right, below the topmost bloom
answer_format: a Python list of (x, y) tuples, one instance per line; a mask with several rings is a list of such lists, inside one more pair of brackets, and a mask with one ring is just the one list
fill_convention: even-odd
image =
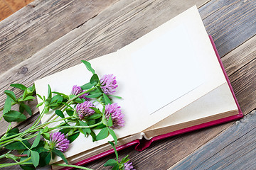
[(111, 128), (118, 128), (119, 126), (124, 126), (124, 114), (122, 114), (122, 110), (117, 103), (107, 104), (105, 107), (105, 116), (107, 120), (110, 118), (113, 122)]

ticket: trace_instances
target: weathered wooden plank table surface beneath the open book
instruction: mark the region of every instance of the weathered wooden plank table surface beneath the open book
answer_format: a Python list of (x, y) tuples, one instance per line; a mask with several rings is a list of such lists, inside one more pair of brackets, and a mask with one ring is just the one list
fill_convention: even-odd
[[(256, 169), (255, 0), (33, 1), (0, 23), (1, 107), (9, 84), (30, 86), (80, 60), (114, 52), (193, 4), (213, 36), (245, 118), (119, 155), (129, 154), (136, 169)], [(19, 128), (37, 118), (32, 104), (34, 115)], [(1, 120), (1, 134), (6, 126)], [(110, 157), (87, 167), (102, 169)]]

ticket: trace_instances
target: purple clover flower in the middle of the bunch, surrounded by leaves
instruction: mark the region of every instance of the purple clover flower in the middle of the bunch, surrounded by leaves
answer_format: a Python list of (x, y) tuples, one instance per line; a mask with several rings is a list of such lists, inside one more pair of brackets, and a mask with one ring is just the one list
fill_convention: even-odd
[(85, 116), (92, 115), (95, 113), (90, 107), (93, 107), (93, 104), (90, 101), (85, 101), (83, 103), (78, 103), (75, 108), (76, 113), (78, 113), (78, 117), (80, 120), (85, 118)]

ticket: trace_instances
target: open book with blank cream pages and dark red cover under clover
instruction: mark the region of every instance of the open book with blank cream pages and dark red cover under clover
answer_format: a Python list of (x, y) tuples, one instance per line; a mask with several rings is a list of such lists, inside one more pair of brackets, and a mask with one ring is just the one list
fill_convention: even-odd
[[(154, 139), (241, 118), (215, 52), (193, 6), (117, 52), (90, 60), (98, 75), (117, 77), (119, 87), (114, 95), (122, 99), (113, 100), (121, 106), (125, 120), (124, 127), (115, 130), (117, 145), (128, 146), (142, 138), (150, 145)], [(47, 96), (49, 84), (53, 91), (70, 94), (73, 85), (82, 86), (91, 76), (85, 65), (79, 64), (36, 81), (36, 92)], [(92, 142), (80, 135), (65, 157), (69, 164), (100, 157), (112, 148), (109, 140), (112, 137)]]

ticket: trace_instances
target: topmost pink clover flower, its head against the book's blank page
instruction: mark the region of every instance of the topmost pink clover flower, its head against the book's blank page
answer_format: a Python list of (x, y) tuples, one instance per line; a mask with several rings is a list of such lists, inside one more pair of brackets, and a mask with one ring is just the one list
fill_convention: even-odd
[(106, 74), (100, 79), (100, 86), (105, 94), (113, 94), (117, 88), (116, 77), (113, 74)]

